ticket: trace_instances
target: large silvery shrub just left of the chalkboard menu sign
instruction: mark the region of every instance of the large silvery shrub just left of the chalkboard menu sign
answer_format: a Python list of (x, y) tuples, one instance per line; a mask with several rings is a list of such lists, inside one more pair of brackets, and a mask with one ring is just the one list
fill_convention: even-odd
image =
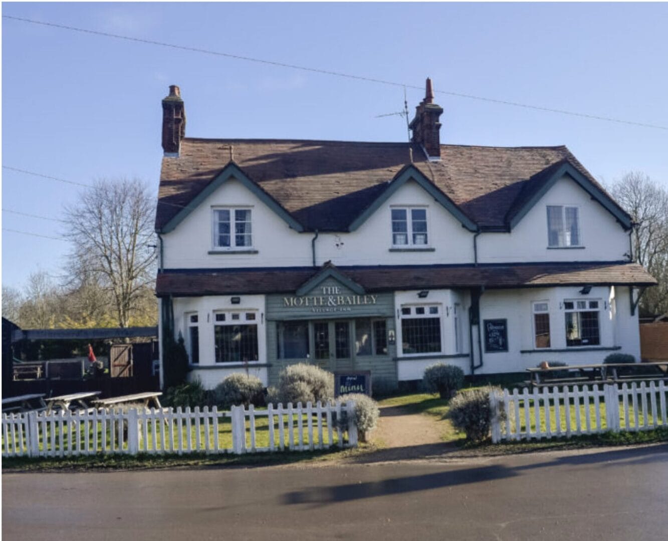
[(276, 391), (271, 389), (271, 397), (284, 404), (331, 400), (334, 397), (334, 375), (313, 365), (290, 365), (279, 374), (278, 387)]

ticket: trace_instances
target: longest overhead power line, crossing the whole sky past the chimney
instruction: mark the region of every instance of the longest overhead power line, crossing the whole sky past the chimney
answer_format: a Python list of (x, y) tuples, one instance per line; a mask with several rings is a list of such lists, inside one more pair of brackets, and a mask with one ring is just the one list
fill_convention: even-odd
[[(212, 51), (210, 49), (202, 49), (200, 47), (188, 47), (187, 45), (176, 45), (174, 43), (164, 43), (164, 41), (155, 41), (153, 39), (145, 39), (142, 37), (132, 37), (128, 35), (120, 35), (120, 34), (114, 34), (110, 32), (102, 32), (99, 30), (91, 30), (88, 28), (79, 28), (79, 27), (73, 27), (69, 25), (61, 25), (57, 23), (49, 23), (47, 21), (35, 21), (34, 19), (25, 19), (24, 17), (13, 17), (12, 15), (3, 15), (4, 19), (13, 19), (15, 21), (22, 21), (24, 23), (31, 23), (35, 25), (43, 25), (43, 26), (49, 26), (49, 27), (54, 27), (54, 28), (59, 28), (63, 30), (70, 30), (70, 31), (75, 31), (75, 32), (81, 32), (81, 33), (87, 33), (87, 34), (93, 34), (93, 35), (102, 35), (105, 37), (113, 37), (115, 39), (124, 39), (126, 41), (135, 41), (137, 43), (146, 43), (148, 45), (159, 45), (160, 47), (170, 47), (171, 49), (180, 49), (182, 51), (190, 51), (193, 53), (204, 53), (208, 55), (214, 55), (214, 56), (222, 56), (226, 58), (232, 58), (236, 60), (244, 60), (248, 62), (256, 62), (256, 63), (263, 63), (267, 65), (273, 65), (277, 67), (289, 67), (291, 69), (300, 69), (301, 71), (311, 71), (312, 73), (321, 73), (323, 75), (334, 75), (335, 77), (345, 77), (347, 79), (356, 79), (358, 81), (367, 81), (371, 83), (380, 83), (384, 85), (391, 85), (391, 86), (400, 86), (400, 87), (405, 87), (405, 88), (412, 88), (412, 89), (418, 89), (422, 90), (422, 86), (418, 85), (409, 85), (406, 83), (399, 83), (397, 81), (387, 81), (385, 79), (377, 79), (375, 77), (365, 77), (363, 75), (351, 75), (350, 73), (343, 73), (341, 71), (333, 71), (331, 69), (321, 69), (317, 67), (308, 67), (308, 66), (303, 66), (303, 65), (297, 65), (297, 64), (291, 64), (291, 63), (286, 63), (286, 62), (278, 62), (278, 61), (273, 61), (273, 60), (267, 60), (267, 59), (261, 59), (261, 58), (254, 58), (250, 56), (243, 56), (243, 55), (235, 55), (232, 53), (224, 53), (222, 51)], [(474, 96), (473, 94), (464, 94), (462, 92), (451, 92), (448, 90), (436, 90), (436, 94), (444, 94), (446, 96), (455, 96), (456, 98), (467, 98), (468, 100), (478, 100), (480, 102), (488, 102), (492, 104), (501, 104), (501, 105), (506, 105), (506, 106), (513, 106), (513, 107), (521, 107), (524, 109), (532, 109), (536, 111), (544, 111), (544, 112), (550, 112), (550, 113), (556, 113), (556, 114), (564, 114), (568, 116), (576, 116), (580, 118), (589, 118), (591, 120), (604, 120), (606, 122), (617, 122), (618, 124), (629, 124), (631, 126), (642, 126), (643, 128), (655, 128), (657, 130), (667, 130), (668, 131), (668, 126), (659, 126), (658, 124), (647, 124), (645, 122), (635, 122), (632, 120), (622, 120), (619, 118), (611, 118), (607, 116), (600, 116), (600, 115), (593, 115), (593, 114), (586, 114), (586, 113), (578, 113), (578, 112), (573, 112), (573, 111), (566, 111), (562, 109), (554, 109), (554, 108), (549, 108), (549, 107), (542, 107), (542, 106), (534, 106), (534, 105), (529, 105), (529, 104), (521, 104), (519, 102), (510, 102), (508, 100), (498, 100), (496, 98), (486, 98), (484, 96)]]

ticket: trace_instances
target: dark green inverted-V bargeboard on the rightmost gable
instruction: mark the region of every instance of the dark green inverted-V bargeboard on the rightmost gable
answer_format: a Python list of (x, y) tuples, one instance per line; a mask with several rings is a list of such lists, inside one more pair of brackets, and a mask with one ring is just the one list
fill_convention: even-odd
[(532, 176), (524, 186), (515, 204), (506, 215), (508, 227), (512, 230), (526, 216), (526, 214), (547, 194), (550, 189), (562, 178), (570, 178), (582, 190), (585, 190), (592, 200), (595, 200), (607, 212), (610, 212), (625, 230), (631, 229), (631, 216), (627, 214), (608, 194), (580, 173), (570, 162), (564, 160), (546, 168)]

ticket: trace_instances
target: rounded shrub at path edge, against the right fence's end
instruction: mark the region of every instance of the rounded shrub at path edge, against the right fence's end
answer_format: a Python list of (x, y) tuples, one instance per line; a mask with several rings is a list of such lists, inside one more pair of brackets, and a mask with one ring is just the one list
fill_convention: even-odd
[[(482, 441), (490, 434), (492, 407), (490, 393), (500, 391), (500, 387), (480, 387), (459, 391), (450, 401), (448, 418), (454, 427), (466, 433), (471, 441)], [(502, 415), (502, 411), (500, 412)]]

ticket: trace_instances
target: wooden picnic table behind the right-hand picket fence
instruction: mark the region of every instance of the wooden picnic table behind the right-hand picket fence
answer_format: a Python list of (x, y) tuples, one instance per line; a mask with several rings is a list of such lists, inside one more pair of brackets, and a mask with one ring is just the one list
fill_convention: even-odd
[[(625, 370), (638, 367), (656, 367), (655, 375), (623, 374)], [(573, 365), (554, 366), (548, 368), (527, 368), (530, 381), (534, 387), (545, 387), (557, 383), (585, 383), (593, 381), (596, 383), (618, 383), (621, 381), (639, 381), (647, 379), (668, 379), (668, 362), (662, 363), (610, 363), (601, 365)], [(566, 377), (554, 377), (567, 373)], [(571, 375), (572, 374), (572, 375)], [(550, 377), (552, 376), (552, 377)]]

